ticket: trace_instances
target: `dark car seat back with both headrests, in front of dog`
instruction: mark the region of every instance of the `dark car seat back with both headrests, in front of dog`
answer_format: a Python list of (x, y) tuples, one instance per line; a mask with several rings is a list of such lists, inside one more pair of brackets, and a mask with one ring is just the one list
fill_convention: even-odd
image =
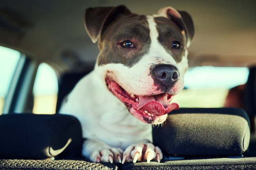
[(249, 118), (243, 109), (179, 109), (168, 114), (166, 123), (153, 127), (154, 144), (164, 152), (161, 163), (93, 163), (80, 156), (81, 126), (73, 116), (2, 115), (0, 168), (254, 169), (256, 157), (245, 152), (248, 132)]

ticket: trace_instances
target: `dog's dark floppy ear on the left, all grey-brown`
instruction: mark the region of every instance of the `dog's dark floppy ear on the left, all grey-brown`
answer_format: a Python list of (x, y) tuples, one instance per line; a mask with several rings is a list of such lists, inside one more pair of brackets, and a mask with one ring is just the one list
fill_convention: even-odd
[(124, 5), (119, 5), (117, 7), (96, 7), (86, 9), (85, 29), (93, 43), (99, 39), (99, 35), (101, 34), (103, 27), (115, 20), (121, 13), (131, 12)]

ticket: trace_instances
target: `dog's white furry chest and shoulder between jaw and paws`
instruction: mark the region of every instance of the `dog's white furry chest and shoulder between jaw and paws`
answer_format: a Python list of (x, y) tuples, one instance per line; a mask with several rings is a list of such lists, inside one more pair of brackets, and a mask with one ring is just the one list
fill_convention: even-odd
[(144, 139), (152, 141), (151, 125), (134, 118), (99, 81), (94, 71), (81, 79), (61, 113), (72, 114), (80, 120), (84, 138), (99, 139), (112, 147), (125, 149)]

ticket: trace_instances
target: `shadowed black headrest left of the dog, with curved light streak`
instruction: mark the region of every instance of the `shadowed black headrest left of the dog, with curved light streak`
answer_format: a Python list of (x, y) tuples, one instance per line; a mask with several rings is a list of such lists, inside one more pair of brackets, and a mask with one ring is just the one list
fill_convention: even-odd
[(81, 157), (80, 122), (69, 115), (0, 116), (1, 159)]

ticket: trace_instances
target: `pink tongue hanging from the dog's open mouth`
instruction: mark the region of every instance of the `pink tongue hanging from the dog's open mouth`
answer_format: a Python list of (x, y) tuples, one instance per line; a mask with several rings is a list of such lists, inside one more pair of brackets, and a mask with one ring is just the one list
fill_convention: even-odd
[(156, 96), (139, 96), (139, 105), (137, 110), (148, 111), (154, 116), (161, 116), (179, 109), (177, 103), (169, 104), (167, 94), (159, 94)]

